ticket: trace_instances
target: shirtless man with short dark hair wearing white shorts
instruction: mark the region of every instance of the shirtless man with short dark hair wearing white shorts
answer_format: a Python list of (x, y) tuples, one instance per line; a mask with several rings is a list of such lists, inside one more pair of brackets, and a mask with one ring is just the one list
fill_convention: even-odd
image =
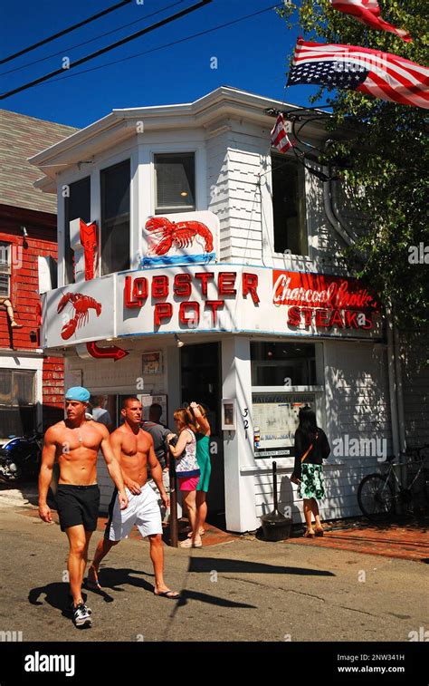
[(177, 600), (180, 596), (171, 591), (164, 583), (164, 544), (162, 542), (161, 512), (157, 496), (148, 484), (149, 465), (152, 478), (157, 484), (165, 507), (169, 500), (162, 481), (161, 465), (157, 461), (154, 441), (147, 431), (140, 429), (141, 404), (138, 398), (129, 396), (122, 401), (120, 411), (124, 423), (110, 434), (111, 446), (118, 459), (124, 478), (129, 507), (121, 512), (116, 493), (109, 508), (109, 522), (104, 539), (101, 539), (95, 551), (94, 561), (89, 569), (88, 582), (100, 588), (98, 572), (100, 562), (112, 546), (116, 546), (136, 524), (141, 536), (148, 536), (150, 558), (155, 571), (155, 595)]

